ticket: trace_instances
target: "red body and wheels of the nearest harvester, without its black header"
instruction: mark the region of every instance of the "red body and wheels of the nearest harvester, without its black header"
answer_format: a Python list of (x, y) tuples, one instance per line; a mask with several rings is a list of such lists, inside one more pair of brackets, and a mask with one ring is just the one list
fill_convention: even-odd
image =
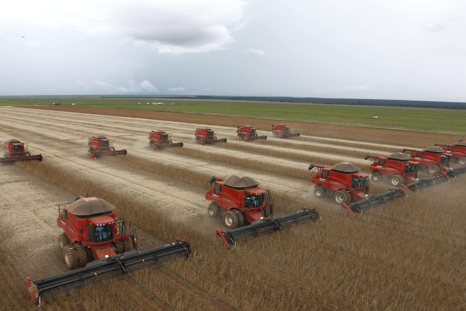
[(137, 248), (134, 229), (124, 219), (115, 218), (114, 209), (105, 200), (81, 195), (58, 205), (57, 225), (64, 231), (58, 240), (69, 269), (84, 267), (89, 257), (105, 259)]

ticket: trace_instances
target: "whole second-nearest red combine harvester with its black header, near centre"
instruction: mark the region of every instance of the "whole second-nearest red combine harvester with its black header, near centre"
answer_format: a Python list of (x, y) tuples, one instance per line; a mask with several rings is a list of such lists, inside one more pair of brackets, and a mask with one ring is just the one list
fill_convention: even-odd
[[(268, 190), (259, 188), (259, 183), (244, 175), (232, 175), (227, 179), (212, 176), (206, 192), (206, 200), (211, 204), (207, 208), (210, 217), (223, 218), (224, 225), (233, 229), (217, 230), (217, 238), (226, 246), (236, 243), (236, 240), (258, 232), (280, 230), (287, 224), (305, 219), (317, 220), (315, 209), (303, 207), (301, 211), (285, 216), (274, 214), (274, 200)], [(249, 223), (245, 227), (244, 224)], [(238, 228), (239, 227), (239, 228)]]

